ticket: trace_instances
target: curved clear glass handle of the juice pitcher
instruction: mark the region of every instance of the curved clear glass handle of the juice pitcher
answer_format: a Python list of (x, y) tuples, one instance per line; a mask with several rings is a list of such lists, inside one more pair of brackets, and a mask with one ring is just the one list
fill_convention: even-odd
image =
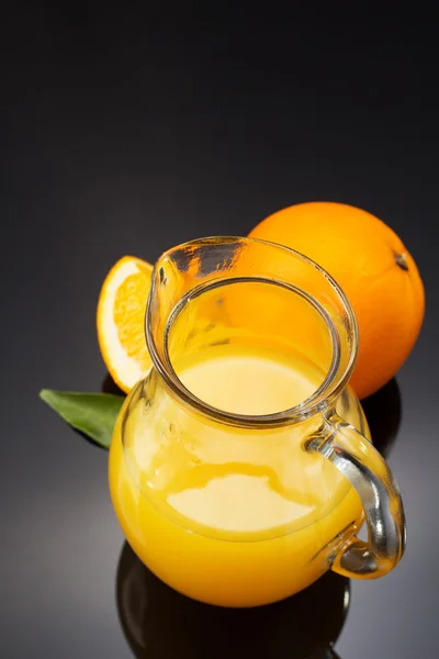
[(345, 577), (375, 579), (399, 562), (406, 543), (404, 506), (389, 465), (352, 425), (331, 412), (307, 444), (357, 490), (365, 515), (368, 541), (353, 536), (335, 558), (333, 570)]

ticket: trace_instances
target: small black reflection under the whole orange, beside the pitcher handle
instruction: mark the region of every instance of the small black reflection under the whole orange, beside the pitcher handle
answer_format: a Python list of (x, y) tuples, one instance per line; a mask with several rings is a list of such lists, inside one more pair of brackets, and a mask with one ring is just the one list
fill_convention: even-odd
[(396, 442), (403, 413), (403, 401), (395, 378), (380, 391), (361, 401), (361, 405), (369, 423), (373, 445), (384, 458), (387, 458)]

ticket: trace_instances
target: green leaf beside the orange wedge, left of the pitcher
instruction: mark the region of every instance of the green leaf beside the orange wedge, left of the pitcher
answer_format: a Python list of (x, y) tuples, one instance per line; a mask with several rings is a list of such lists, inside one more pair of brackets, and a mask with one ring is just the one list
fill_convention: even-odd
[(42, 389), (40, 398), (77, 431), (110, 448), (111, 436), (124, 396)]

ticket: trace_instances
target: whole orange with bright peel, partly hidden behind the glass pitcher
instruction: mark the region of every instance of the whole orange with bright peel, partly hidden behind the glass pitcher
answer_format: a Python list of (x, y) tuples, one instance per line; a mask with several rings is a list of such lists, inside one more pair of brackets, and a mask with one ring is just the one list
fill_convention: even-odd
[(398, 236), (371, 213), (333, 202), (283, 209), (249, 235), (305, 254), (345, 290), (360, 331), (351, 380), (357, 395), (391, 380), (416, 343), (425, 311), (419, 271)]

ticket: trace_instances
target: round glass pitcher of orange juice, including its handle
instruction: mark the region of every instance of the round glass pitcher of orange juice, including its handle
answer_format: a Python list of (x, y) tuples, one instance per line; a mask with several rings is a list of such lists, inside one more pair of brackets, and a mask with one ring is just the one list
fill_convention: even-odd
[(156, 264), (146, 336), (154, 366), (121, 412), (110, 481), (153, 572), (254, 606), (330, 567), (373, 578), (398, 562), (401, 498), (347, 387), (356, 320), (324, 270), (245, 238), (177, 247)]

